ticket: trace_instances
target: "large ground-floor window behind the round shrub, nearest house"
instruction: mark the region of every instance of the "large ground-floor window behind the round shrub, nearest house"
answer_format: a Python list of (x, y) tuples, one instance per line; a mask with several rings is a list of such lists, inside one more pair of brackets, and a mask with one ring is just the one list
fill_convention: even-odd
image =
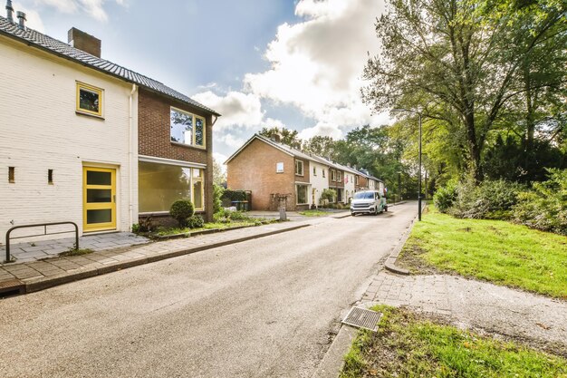
[(139, 212), (169, 211), (178, 199), (190, 199), (204, 210), (204, 170), (139, 161)]

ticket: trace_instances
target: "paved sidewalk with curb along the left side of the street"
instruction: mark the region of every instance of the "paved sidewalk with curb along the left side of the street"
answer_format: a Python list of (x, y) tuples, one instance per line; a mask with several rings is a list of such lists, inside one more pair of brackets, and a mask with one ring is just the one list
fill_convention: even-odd
[(311, 226), (311, 223), (272, 223), (138, 246), (117, 247), (82, 256), (53, 257), (22, 264), (5, 264), (0, 266), (0, 297), (31, 293), (127, 267), (135, 267), (307, 226)]

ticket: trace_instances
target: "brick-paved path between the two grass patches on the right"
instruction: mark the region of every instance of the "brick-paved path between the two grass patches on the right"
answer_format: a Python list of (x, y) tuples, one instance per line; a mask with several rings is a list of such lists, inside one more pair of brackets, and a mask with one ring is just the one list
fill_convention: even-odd
[(398, 276), (381, 271), (362, 302), (447, 315), (463, 328), (552, 344), (567, 355), (567, 303), (459, 276)]

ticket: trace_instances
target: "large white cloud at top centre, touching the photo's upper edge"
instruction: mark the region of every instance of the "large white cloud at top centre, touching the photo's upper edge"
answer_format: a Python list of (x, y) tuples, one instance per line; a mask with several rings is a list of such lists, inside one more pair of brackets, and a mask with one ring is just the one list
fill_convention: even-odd
[(367, 52), (378, 51), (374, 24), (382, 2), (367, 0), (301, 0), (298, 24), (279, 26), (264, 54), (271, 68), (245, 75), (245, 90), (293, 104), (318, 121), (310, 132), (338, 136), (341, 129), (376, 124), (360, 99), (360, 78)]

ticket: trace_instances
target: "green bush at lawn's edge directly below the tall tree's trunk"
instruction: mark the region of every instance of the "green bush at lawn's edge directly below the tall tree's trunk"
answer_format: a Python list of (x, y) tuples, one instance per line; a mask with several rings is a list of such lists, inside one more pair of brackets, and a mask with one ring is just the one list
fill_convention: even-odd
[(471, 181), (461, 182), (449, 213), (456, 218), (510, 219), (523, 189), (520, 184), (504, 179), (487, 179), (478, 186)]

